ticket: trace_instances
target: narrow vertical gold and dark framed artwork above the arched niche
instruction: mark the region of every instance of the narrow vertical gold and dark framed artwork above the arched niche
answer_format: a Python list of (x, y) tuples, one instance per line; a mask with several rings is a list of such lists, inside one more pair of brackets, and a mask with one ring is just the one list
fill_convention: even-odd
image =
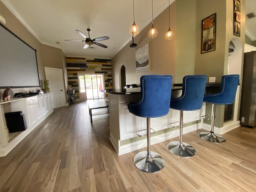
[(234, 2), (234, 35), (240, 37), (241, 25), (241, 9), (240, 0), (233, 0)]

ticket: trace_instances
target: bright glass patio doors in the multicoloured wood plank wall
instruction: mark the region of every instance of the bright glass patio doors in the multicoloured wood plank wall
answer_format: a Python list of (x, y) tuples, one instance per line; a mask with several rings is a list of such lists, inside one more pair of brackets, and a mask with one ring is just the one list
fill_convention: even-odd
[(79, 90), (82, 100), (104, 98), (103, 74), (80, 74)]

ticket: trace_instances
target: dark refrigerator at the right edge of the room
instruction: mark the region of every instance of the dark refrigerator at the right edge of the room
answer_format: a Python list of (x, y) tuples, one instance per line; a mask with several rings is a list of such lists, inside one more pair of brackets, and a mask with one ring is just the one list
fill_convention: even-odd
[(256, 51), (244, 53), (240, 125), (256, 126)]

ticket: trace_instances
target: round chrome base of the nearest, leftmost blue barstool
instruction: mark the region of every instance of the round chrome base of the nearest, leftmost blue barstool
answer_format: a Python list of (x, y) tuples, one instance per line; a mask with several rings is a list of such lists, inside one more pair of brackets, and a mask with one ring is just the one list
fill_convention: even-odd
[(139, 170), (147, 173), (157, 173), (164, 168), (164, 159), (159, 154), (156, 152), (150, 152), (150, 156), (147, 154), (147, 151), (142, 151), (134, 157), (134, 164)]

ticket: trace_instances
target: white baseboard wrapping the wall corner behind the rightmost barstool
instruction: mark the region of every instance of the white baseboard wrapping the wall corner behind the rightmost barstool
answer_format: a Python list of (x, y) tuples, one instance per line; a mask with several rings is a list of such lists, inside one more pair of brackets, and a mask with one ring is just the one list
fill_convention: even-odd
[[(214, 133), (222, 135), (226, 132), (229, 132), (235, 128), (238, 128), (240, 126), (240, 121), (229, 121), (229, 122), (225, 122), (223, 127), (219, 128), (219, 127), (214, 127)], [(211, 125), (202, 123), (202, 129), (211, 130)]]

